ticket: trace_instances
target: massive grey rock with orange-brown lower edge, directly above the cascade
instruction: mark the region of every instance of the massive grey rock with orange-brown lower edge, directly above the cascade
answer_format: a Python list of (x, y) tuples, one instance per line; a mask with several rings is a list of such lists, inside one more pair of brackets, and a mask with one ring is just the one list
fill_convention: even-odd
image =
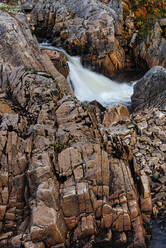
[(44, 35), (55, 46), (81, 55), (84, 64), (109, 76), (124, 67), (124, 50), (115, 37), (121, 22), (121, 1), (40, 0), (31, 12), (38, 37)]

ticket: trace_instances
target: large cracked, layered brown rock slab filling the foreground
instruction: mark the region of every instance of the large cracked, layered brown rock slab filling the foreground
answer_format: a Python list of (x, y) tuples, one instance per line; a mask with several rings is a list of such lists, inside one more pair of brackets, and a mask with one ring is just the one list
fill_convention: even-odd
[[(135, 247), (143, 247), (144, 229), (128, 164), (131, 154), (124, 151), (117, 157), (121, 146), (113, 153), (105, 150), (91, 108), (85, 110), (72, 96), (60, 99), (55, 85), (48, 75), (24, 68), (1, 82), (3, 90), (10, 90), (12, 97), (6, 101), (16, 112), (1, 115), (2, 178), (9, 168), (2, 181), (2, 232), (17, 230), (25, 244), (30, 239), (36, 245), (44, 241), (48, 247), (75, 247), (78, 240), (83, 246), (84, 238), (97, 237), (102, 230), (105, 237), (110, 230), (125, 235), (126, 242), (134, 231)], [(12, 242), (3, 239), (1, 246)]]

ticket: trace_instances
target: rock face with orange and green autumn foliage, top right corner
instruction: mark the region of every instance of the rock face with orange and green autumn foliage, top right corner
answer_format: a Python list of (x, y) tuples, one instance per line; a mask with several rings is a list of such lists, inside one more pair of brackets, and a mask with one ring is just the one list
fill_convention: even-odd
[(166, 67), (166, 9), (162, 3), (122, 1), (124, 29), (120, 43), (124, 44), (125, 63), (129, 60), (131, 66), (144, 70), (157, 65)]

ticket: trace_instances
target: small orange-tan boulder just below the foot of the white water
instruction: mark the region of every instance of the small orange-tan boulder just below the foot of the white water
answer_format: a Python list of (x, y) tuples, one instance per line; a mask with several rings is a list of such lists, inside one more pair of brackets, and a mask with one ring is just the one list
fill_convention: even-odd
[(116, 125), (118, 122), (125, 121), (129, 118), (129, 112), (126, 106), (116, 105), (110, 108), (104, 114), (103, 124), (106, 127)]

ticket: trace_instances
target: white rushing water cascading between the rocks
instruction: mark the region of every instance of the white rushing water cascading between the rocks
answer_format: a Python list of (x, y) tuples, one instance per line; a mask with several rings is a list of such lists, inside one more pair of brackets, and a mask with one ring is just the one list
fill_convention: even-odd
[(58, 49), (47, 43), (42, 43), (41, 48), (63, 52), (68, 61), (68, 81), (75, 96), (82, 102), (98, 101), (105, 107), (117, 103), (129, 104), (133, 93), (133, 83), (118, 83), (111, 79), (92, 72), (82, 66), (79, 57), (68, 55), (63, 49)]

